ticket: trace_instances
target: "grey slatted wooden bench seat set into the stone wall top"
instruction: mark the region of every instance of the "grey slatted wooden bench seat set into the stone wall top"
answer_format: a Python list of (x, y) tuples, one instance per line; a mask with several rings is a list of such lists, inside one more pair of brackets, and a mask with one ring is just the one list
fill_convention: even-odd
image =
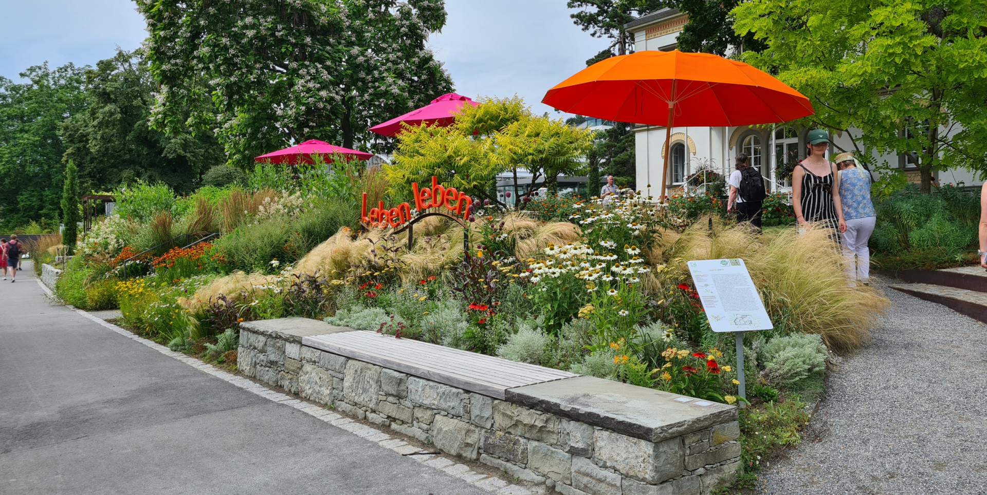
[(302, 345), (499, 399), (507, 389), (579, 376), (365, 330), (305, 336)]

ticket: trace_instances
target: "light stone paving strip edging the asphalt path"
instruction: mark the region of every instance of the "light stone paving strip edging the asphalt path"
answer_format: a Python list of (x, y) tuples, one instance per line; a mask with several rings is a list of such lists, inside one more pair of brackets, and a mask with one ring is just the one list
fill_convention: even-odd
[[(57, 301), (54, 293), (45, 286), (40, 279), (38, 281), (38, 286), (48, 295), (53, 301)], [(60, 304), (60, 303), (59, 303)], [(245, 389), (261, 395), (266, 399), (284, 404), (287, 406), (294, 407), (301, 410), (302, 412), (308, 413), (316, 418), (319, 418), (326, 423), (333, 426), (338, 426), (343, 430), (346, 430), (356, 437), (362, 438), (364, 440), (374, 442), (377, 445), (385, 449), (390, 449), (402, 456), (414, 456), (413, 459), (420, 462), (424, 462), (426, 465), (434, 467), (435, 469), (441, 470), (447, 474), (455, 476), (457, 478), (463, 479), (471, 484), (474, 484), (480, 488), (496, 493), (497, 495), (529, 495), (533, 493), (528, 487), (523, 487), (519, 485), (509, 484), (507, 481), (499, 479), (488, 474), (478, 473), (466, 464), (457, 463), (455, 460), (450, 460), (443, 458), (438, 454), (430, 454), (427, 451), (418, 449), (413, 445), (409, 445), (407, 441), (392, 438), (387, 433), (384, 433), (376, 428), (371, 428), (369, 426), (357, 423), (350, 418), (344, 417), (341, 414), (326, 409), (325, 407), (313, 404), (311, 402), (306, 402), (304, 400), (299, 400), (292, 398), (290, 395), (285, 395), (284, 393), (278, 392), (276, 390), (267, 389), (265, 386), (252, 382), (246, 378), (234, 375), (232, 373), (220, 370), (215, 366), (203, 363), (202, 361), (187, 356), (181, 352), (176, 352), (168, 347), (161, 345), (153, 340), (149, 340), (138, 336), (132, 331), (121, 328), (114, 323), (111, 323), (103, 318), (98, 318), (90, 315), (89, 312), (80, 310), (71, 305), (64, 305), (71, 308), (72, 311), (82, 315), (85, 318), (92, 319), (93, 321), (110, 328), (116, 333), (123, 335), (127, 338), (140, 342), (166, 356), (175, 358), (183, 363), (195, 368), (203, 373), (212, 375), (220, 380), (229, 382), (230, 384), (237, 386), (241, 389)], [(541, 488), (541, 487), (539, 487)]]

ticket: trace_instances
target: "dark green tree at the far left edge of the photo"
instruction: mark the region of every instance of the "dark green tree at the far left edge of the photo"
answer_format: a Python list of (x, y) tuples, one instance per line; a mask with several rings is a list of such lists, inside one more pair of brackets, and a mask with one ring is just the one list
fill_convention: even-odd
[(47, 63), (0, 77), (0, 226), (60, 217), (65, 152), (58, 124), (85, 109), (82, 69)]

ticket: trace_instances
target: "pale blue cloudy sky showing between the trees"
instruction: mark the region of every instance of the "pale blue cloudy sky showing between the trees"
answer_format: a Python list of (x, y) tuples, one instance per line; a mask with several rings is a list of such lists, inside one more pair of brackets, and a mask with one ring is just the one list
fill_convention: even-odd
[[(517, 94), (542, 113), (545, 92), (585, 67), (607, 41), (569, 19), (566, 0), (446, 0), (449, 20), (429, 40), (471, 98)], [(0, 0), (0, 76), (45, 60), (95, 64), (114, 47), (133, 49), (146, 36), (132, 0)], [(553, 112), (553, 114), (556, 114)]]

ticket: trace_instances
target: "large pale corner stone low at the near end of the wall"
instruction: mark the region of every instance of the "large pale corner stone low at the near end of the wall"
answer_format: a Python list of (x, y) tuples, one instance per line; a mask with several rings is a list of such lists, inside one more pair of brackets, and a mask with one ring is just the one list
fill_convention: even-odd
[(593, 444), (595, 459), (647, 483), (660, 483), (677, 476), (684, 466), (681, 438), (652, 443), (610, 430), (595, 430)]

